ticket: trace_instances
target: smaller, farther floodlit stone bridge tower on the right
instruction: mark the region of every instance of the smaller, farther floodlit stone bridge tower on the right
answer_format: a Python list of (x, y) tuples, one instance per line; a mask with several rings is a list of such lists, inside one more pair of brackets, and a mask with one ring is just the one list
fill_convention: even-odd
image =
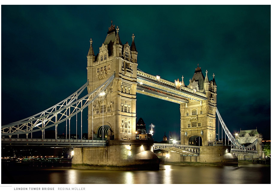
[(207, 100), (196, 101), (188, 98), (188, 103), (180, 104), (180, 139), (181, 144), (192, 145), (195, 139), (201, 138), (202, 145), (212, 145), (216, 139), (216, 96), (217, 85), (209, 81), (208, 71), (204, 78), (201, 67), (197, 64), (188, 88), (206, 93)]

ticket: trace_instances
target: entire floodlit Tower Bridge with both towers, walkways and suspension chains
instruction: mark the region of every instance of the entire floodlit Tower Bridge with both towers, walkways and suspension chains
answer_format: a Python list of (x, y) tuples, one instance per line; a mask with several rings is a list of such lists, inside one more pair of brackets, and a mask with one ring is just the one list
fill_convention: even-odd
[[(19, 134), (25, 134), (28, 139), (29, 133), (32, 138), (32, 132), (36, 131), (42, 133), (44, 141), (45, 129), (55, 127), (55, 141), (51, 140), (51, 142), (57, 144), (58, 124), (68, 122), (66, 127), (69, 126), (70, 135), (70, 119), (78, 115), (81, 116), (82, 135), (82, 110), (87, 108), (88, 139), (92, 142), (88, 142), (85, 146), (97, 147), (97, 144), (93, 144), (97, 143), (94, 140), (101, 140), (102, 144), (104, 140), (115, 140), (121, 145), (129, 144), (128, 148), (131, 148), (132, 145), (137, 145), (135, 141), (138, 141), (135, 140), (136, 93), (140, 93), (179, 104), (181, 145), (175, 147), (164, 145), (164, 150), (199, 155), (198, 147), (189, 146), (190, 140), (199, 137), (202, 146), (213, 145), (216, 139), (216, 115), (234, 149), (245, 151), (254, 146), (256, 148), (259, 142), (252, 140), (252, 144), (245, 147), (227, 129), (217, 109), (217, 85), (214, 74), (213, 79), (209, 80), (208, 71), (205, 71), (204, 77), (201, 67), (197, 64), (189, 85), (185, 85), (183, 76), (181, 81), (177, 79), (170, 82), (160, 76), (145, 73), (138, 69), (138, 52), (134, 34), (132, 34), (130, 45), (128, 42), (122, 44), (119, 30), (119, 27), (115, 28), (111, 22), (105, 41), (96, 55), (92, 46), (93, 40), (90, 39), (90, 48), (87, 53), (87, 82), (81, 88), (47, 110), (2, 126), (2, 143), (10, 141), (5, 140), (5, 136), (11, 138), (12, 135), (17, 135), (19, 138)], [(88, 94), (81, 97), (85, 88)], [(66, 129), (66, 139), (72, 142), (67, 135)], [(115, 147), (112, 141), (109, 141), (109, 145)], [(153, 152), (154, 149), (162, 148), (159, 145), (150, 147), (151, 145), (147, 144), (145, 151)], [(142, 158), (141, 149), (135, 149), (135, 153), (132, 153), (132, 149), (128, 151), (130, 151), (129, 156)], [(128, 151), (124, 151), (123, 154)], [(76, 153), (83, 155), (82, 151), (76, 151)], [(128, 159), (128, 156), (125, 155), (124, 159)]]

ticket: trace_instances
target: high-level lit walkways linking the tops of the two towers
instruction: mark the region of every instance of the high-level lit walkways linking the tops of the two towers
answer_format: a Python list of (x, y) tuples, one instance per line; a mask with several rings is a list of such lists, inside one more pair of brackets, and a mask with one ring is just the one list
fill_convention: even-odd
[[(145, 89), (143, 91), (143, 89), (140, 89), (140, 87), (141, 88), (152, 87), (155, 90), (161, 90), (162, 92), (167, 93), (170, 96), (172, 96), (173, 99), (169, 99), (169, 95), (168, 95), (168, 99), (167, 99), (167, 96), (162, 95), (162, 93), (155, 92), (156, 95), (158, 96), (158, 97), (157, 96), (155, 96), (155, 97), (160, 98), (160, 99), (164, 99), (164, 100), (167, 100), (170, 102), (175, 102), (175, 103), (180, 104), (180, 103), (187, 103), (186, 99), (188, 99), (188, 98), (194, 99), (197, 101), (203, 101), (203, 100), (207, 99), (207, 96), (205, 93), (201, 93), (197, 90), (190, 89), (190, 88), (184, 87), (184, 86), (180, 86), (180, 88), (177, 89), (175, 86), (175, 83), (167, 81), (165, 79), (161, 79), (160, 77), (157, 77), (157, 76), (154, 76), (154, 75), (151, 75), (148, 73), (144, 73), (143, 71), (140, 71), (140, 70), (137, 70), (137, 83), (138, 83), (138, 85), (140, 84), (139, 87), (137, 85), (137, 90), (136, 90), (137, 93), (141, 93), (144, 95), (154, 97), (154, 95), (152, 95), (152, 93), (154, 94), (154, 92), (152, 92), (150, 94), (148, 93), (148, 91), (151, 92), (152, 90)], [(177, 98), (177, 97), (183, 97), (184, 99)], [(177, 101), (177, 99), (179, 101)]]

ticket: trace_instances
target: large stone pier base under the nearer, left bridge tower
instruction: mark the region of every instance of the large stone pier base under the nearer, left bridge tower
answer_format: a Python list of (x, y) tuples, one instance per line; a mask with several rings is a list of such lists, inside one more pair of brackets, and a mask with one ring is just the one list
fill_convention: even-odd
[(105, 147), (74, 148), (72, 168), (158, 170), (159, 159), (152, 142), (110, 140)]

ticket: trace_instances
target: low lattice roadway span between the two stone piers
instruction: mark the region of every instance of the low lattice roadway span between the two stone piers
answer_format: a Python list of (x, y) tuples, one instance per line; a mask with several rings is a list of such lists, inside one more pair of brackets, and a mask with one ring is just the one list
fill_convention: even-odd
[(183, 155), (199, 155), (200, 147), (192, 145), (180, 145), (180, 144), (161, 144), (155, 143), (154, 150), (166, 150), (170, 152), (176, 152)]

